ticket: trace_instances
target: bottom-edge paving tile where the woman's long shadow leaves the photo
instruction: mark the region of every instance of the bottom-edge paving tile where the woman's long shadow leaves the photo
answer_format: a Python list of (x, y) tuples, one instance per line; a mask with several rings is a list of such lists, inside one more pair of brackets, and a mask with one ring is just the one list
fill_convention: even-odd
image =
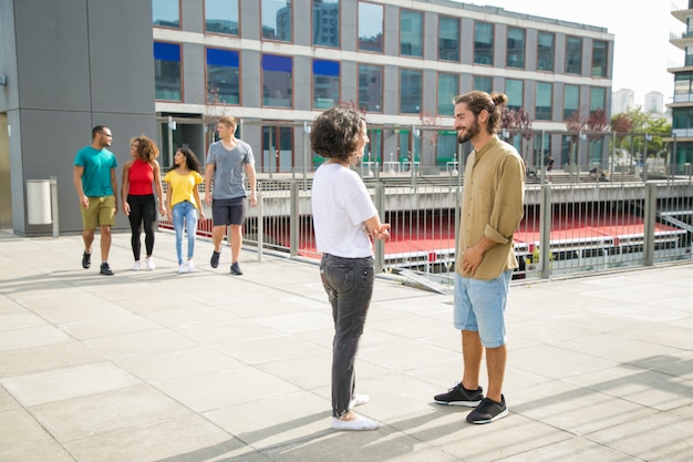
[(79, 462), (230, 461), (248, 453), (238, 440), (198, 415), (75, 440), (65, 448)]

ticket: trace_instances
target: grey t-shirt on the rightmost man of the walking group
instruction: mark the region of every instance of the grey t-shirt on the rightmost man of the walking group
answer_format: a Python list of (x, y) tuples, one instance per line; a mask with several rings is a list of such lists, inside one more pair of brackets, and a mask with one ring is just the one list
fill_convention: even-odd
[(227, 150), (221, 141), (209, 145), (207, 164), (214, 164), (213, 198), (232, 199), (247, 197), (244, 175), (246, 164), (255, 164), (252, 148), (244, 141), (236, 140), (236, 147)]

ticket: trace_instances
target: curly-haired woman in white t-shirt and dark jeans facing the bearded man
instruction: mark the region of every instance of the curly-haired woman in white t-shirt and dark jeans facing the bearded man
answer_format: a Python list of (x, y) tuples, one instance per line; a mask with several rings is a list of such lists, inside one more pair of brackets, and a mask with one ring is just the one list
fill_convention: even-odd
[(325, 157), (313, 177), (311, 194), (320, 276), (332, 307), (332, 428), (375, 430), (380, 423), (358, 415), (354, 405), (368, 394), (355, 393), (354, 360), (373, 294), (371, 238), (390, 237), (363, 181), (351, 170), (369, 142), (365, 120), (356, 111), (337, 106), (312, 125), (310, 142)]

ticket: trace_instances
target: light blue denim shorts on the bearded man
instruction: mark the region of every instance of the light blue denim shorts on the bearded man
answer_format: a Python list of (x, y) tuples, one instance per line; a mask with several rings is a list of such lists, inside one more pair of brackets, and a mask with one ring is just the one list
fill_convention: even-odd
[(455, 273), (455, 328), (478, 331), (486, 348), (504, 346), (505, 304), (511, 278), (513, 270), (490, 280), (470, 279)]

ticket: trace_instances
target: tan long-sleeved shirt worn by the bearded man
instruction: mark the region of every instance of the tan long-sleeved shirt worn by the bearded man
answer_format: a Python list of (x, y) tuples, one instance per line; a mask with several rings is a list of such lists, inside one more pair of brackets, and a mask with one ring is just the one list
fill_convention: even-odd
[[(469, 154), (462, 193), (457, 273), (489, 280), (517, 268), (513, 234), (525, 214), (524, 189), (525, 163), (515, 147), (498, 136), (494, 135), (478, 153)], [(462, 256), (483, 237), (497, 244), (484, 254), (474, 276), (466, 275)]]

